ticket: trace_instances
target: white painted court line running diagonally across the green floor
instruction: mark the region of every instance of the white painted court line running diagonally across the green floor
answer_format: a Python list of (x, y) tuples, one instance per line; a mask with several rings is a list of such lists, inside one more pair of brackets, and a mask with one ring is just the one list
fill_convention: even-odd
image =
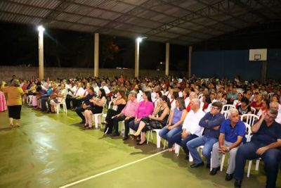
[(115, 170), (119, 170), (120, 168), (125, 168), (126, 166), (133, 165), (134, 163), (138, 163), (138, 162), (144, 161), (144, 160), (146, 160), (146, 159), (148, 159), (148, 158), (151, 158), (151, 157), (153, 157), (153, 156), (157, 156), (157, 155), (159, 155), (160, 153), (164, 153), (165, 151), (168, 151), (168, 149), (165, 149), (165, 150), (163, 150), (163, 151), (160, 151), (160, 152), (158, 152), (158, 153), (155, 153), (155, 154), (153, 154), (153, 155), (151, 155), (151, 156), (147, 156), (147, 157), (145, 157), (145, 158), (138, 159), (137, 161), (133, 161), (133, 162), (131, 162), (131, 163), (127, 163), (126, 165), (121, 165), (121, 166), (119, 166), (119, 167), (117, 167), (117, 168), (113, 168), (113, 169), (111, 169), (111, 170), (107, 170), (107, 171), (105, 171), (105, 172), (103, 172), (103, 173), (99, 173), (99, 174), (97, 174), (97, 175), (92, 175), (92, 176), (90, 176), (90, 177), (86, 177), (86, 178), (84, 178), (84, 179), (82, 179), (82, 180), (79, 180), (79, 181), (77, 181), (77, 182), (72, 182), (72, 183), (70, 183), (70, 184), (65, 184), (64, 186), (59, 187), (59, 188), (70, 187), (70, 186), (72, 186), (72, 185), (74, 185), (74, 184), (79, 184), (79, 183), (81, 183), (81, 182), (85, 182), (85, 181), (87, 181), (87, 180), (90, 180), (90, 179), (92, 179), (92, 178), (98, 177), (98, 176), (100, 176), (100, 175), (105, 175), (105, 174), (107, 174), (107, 173), (111, 173), (111, 172), (113, 172), (113, 171), (115, 171)]

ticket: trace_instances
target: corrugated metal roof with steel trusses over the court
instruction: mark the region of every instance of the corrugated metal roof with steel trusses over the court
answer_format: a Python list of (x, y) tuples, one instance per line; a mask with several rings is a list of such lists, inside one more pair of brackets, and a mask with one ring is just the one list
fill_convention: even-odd
[(273, 0), (6, 0), (0, 21), (190, 45), (280, 21)]

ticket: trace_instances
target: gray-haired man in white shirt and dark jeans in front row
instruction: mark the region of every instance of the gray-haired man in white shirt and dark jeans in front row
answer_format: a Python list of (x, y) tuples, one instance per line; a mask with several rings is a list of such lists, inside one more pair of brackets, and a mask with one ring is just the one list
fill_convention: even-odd
[(199, 122), (205, 115), (205, 113), (200, 110), (199, 99), (192, 99), (190, 101), (190, 108), (190, 112), (186, 115), (185, 120), (183, 121), (183, 131), (175, 134), (171, 138), (173, 142), (183, 147), (186, 154), (185, 158), (187, 160), (189, 159), (189, 151), (186, 143), (202, 135), (204, 128), (199, 126)]

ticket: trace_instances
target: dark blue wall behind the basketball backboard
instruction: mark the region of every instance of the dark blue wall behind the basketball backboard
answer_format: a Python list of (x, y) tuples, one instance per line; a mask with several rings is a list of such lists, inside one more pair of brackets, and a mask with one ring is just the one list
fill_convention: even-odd
[[(197, 77), (261, 80), (261, 61), (249, 61), (249, 50), (193, 51), (191, 73)], [(268, 49), (268, 78), (281, 79), (281, 49)]]

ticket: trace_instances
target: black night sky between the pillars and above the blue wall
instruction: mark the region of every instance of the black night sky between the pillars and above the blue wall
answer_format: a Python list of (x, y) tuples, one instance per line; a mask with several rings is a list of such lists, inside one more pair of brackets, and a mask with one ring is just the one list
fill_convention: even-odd
[[(193, 51), (279, 49), (281, 23), (247, 27), (193, 44)], [(0, 65), (38, 65), (37, 27), (0, 23)], [(85, 32), (46, 28), (44, 65), (93, 68), (94, 36)], [(134, 68), (135, 39), (100, 35), (100, 68)], [(144, 39), (140, 44), (140, 68), (162, 69), (165, 44)], [(188, 46), (170, 45), (170, 70), (188, 70)]]

